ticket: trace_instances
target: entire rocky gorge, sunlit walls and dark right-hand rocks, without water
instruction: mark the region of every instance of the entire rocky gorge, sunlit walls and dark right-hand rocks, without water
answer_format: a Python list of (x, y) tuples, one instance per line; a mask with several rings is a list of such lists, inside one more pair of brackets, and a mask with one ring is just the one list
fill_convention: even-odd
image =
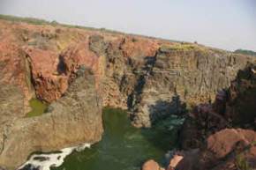
[[(255, 154), (255, 56), (197, 43), (4, 19), (0, 37), (3, 168), (18, 168), (33, 152), (100, 141), (106, 106), (127, 109), (138, 128), (150, 128), (169, 115), (186, 115), (180, 134), (185, 151), (179, 154), (189, 162), (184, 169), (210, 169), (223, 158), (234, 162), (227, 155), (237, 141), (242, 148), (250, 146), (248, 158)], [(32, 98), (49, 103), (43, 115), (26, 117)], [(227, 134), (231, 145), (222, 141)], [(185, 155), (205, 162), (186, 160)], [(224, 163), (215, 168), (228, 169)]]

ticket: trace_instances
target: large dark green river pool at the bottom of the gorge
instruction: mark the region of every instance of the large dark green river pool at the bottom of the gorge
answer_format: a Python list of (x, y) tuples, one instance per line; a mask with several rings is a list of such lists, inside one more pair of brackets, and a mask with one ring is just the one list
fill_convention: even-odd
[(177, 126), (169, 117), (153, 129), (136, 129), (119, 109), (103, 111), (102, 141), (83, 152), (73, 152), (57, 170), (139, 170), (147, 159), (164, 164), (164, 154), (176, 146)]

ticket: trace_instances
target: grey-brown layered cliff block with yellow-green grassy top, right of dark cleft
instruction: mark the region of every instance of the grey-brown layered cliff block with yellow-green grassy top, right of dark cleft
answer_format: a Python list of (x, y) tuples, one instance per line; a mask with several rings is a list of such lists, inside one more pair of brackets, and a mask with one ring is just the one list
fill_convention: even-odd
[(182, 113), (184, 102), (193, 106), (214, 101), (215, 93), (230, 86), (237, 71), (251, 60), (196, 45), (160, 48), (135, 100), (134, 123), (148, 127), (162, 115)]

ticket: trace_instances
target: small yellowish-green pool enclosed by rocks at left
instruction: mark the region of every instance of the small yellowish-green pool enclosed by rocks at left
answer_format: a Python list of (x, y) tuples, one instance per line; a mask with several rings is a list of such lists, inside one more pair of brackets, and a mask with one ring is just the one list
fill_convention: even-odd
[(31, 111), (26, 114), (26, 117), (42, 115), (47, 108), (47, 104), (37, 99), (29, 100), (29, 106), (31, 107)]

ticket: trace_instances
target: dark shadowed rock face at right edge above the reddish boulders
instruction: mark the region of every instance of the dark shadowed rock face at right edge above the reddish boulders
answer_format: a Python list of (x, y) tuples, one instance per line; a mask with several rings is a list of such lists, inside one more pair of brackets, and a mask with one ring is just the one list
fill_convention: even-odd
[(227, 92), (225, 116), (233, 126), (256, 129), (256, 65), (239, 70)]

